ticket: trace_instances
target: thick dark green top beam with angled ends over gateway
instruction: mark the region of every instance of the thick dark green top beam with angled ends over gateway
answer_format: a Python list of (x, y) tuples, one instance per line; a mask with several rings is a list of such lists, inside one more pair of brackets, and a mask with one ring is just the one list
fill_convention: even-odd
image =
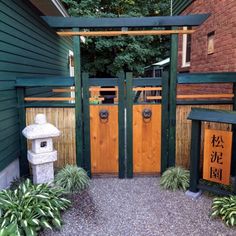
[(157, 17), (117, 17), (117, 18), (96, 18), (96, 17), (60, 17), (42, 16), (52, 28), (122, 28), (122, 27), (182, 27), (199, 26), (210, 15), (197, 14), (187, 16), (157, 16)]

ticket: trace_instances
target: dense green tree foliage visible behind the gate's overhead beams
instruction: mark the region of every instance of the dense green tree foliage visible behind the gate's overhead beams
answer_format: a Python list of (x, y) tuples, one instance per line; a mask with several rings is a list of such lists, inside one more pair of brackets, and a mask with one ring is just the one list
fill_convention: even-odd
[[(71, 16), (125, 17), (169, 15), (170, 0), (63, 0)], [(86, 38), (81, 44), (82, 70), (95, 76), (132, 71), (168, 56), (169, 36)]]

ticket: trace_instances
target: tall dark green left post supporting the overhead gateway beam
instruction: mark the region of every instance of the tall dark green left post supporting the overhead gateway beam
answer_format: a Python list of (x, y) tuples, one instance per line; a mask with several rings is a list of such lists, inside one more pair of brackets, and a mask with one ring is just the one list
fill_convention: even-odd
[[(74, 31), (79, 31), (75, 28)], [(75, 70), (75, 124), (76, 124), (76, 162), (84, 167), (83, 161), (83, 120), (82, 120), (82, 89), (81, 89), (81, 57), (80, 36), (73, 36), (74, 70)]]

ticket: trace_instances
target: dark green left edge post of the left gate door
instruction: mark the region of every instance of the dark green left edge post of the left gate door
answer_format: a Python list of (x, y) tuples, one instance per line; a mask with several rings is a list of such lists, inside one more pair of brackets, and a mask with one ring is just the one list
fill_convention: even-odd
[(82, 74), (83, 83), (83, 119), (84, 119), (84, 168), (91, 177), (90, 149), (90, 105), (89, 105), (89, 74)]

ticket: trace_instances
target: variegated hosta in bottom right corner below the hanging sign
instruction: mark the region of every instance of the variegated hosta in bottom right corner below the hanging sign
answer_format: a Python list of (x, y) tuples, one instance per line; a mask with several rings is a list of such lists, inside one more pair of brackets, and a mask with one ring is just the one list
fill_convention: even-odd
[(236, 196), (214, 198), (211, 216), (220, 217), (228, 226), (236, 225)]

